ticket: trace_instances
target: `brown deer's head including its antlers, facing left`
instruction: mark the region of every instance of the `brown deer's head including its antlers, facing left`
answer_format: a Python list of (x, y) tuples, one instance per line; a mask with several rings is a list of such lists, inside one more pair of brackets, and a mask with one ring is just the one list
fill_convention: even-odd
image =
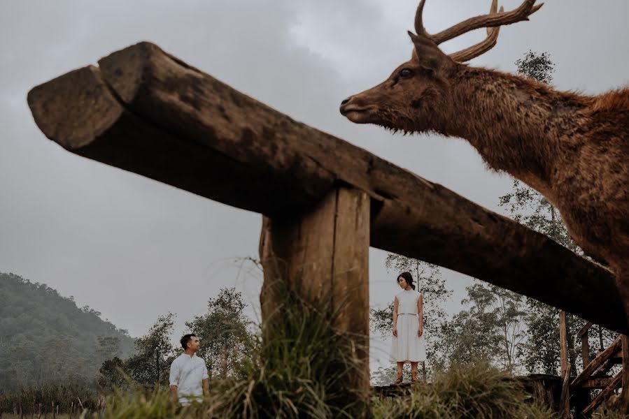
[[(528, 20), (542, 7), (535, 0), (504, 12), (493, 0), (490, 13), (471, 17), (439, 34), (428, 34), (422, 23), (425, 0), (415, 15), (415, 31), (409, 31), (414, 45), (411, 59), (391, 73), (389, 78), (371, 89), (341, 102), (341, 114), (356, 124), (376, 124), (405, 132), (437, 131), (445, 133), (448, 121), (455, 117), (453, 87), (462, 63), (490, 50), (497, 41), (500, 26)], [(454, 54), (444, 54), (438, 45), (479, 28), (487, 28), (480, 43)]]

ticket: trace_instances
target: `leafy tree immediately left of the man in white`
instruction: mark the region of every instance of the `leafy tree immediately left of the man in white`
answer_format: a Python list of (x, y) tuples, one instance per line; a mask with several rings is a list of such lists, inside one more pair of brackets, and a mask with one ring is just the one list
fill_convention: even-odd
[(171, 344), (174, 325), (174, 314), (160, 316), (146, 335), (136, 339), (136, 354), (126, 362), (136, 382), (167, 385), (170, 365), (177, 352)]

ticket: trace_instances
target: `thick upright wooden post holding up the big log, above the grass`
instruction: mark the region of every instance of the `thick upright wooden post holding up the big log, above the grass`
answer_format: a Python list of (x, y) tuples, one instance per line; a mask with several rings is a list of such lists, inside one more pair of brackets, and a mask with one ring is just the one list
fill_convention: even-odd
[(265, 216), (260, 236), (262, 321), (272, 319), (281, 307), (278, 281), (285, 281), (306, 301), (331, 296), (330, 309), (340, 312), (334, 326), (351, 333), (363, 361), (362, 374), (348, 377), (348, 388), (362, 390), (359, 397), (365, 402), (369, 397), (369, 210), (366, 193), (339, 186), (306, 212)]

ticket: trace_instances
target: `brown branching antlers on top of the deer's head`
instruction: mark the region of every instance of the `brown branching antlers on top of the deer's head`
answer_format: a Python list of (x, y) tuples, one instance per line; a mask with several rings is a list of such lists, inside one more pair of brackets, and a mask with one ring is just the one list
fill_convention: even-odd
[(445, 41), (449, 41), (452, 38), (456, 38), (462, 34), (465, 34), (469, 31), (473, 31), (474, 29), (479, 28), (487, 28), (487, 38), (481, 43), (477, 43), (472, 47), (466, 48), (460, 52), (455, 52), (451, 54), (450, 57), (455, 61), (468, 61), (474, 57), (478, 57), (480, 54), (487, 52), (494, 45), (496, 45), (498, 32), (500, 31), (500, 27), (505, 24), (512, 24), (516, 22), (521, 22), (522, 20), (528, 20), (528, 17), (533, 13), (537, 12), (539, 8), (544, 6), (544, 3), (538, 4), (535, 6), (536, 0), (524, 0), (520, 7), (511, 10), (507, 13), (504, 12), (504, 8), (500, 8), (500, 12), (496, 12), (497, 10), (497, 0), (493, 0), (491, 4), (490, 11), (487, 15), (481, 15), (476, 17), (470, 17), (463, 22), (455, 24), (448, 29), (439, 32), (439, 34), (428, 34), (424, 29), (424, 25), (422, 22), (422, 13), (425, 4), (425, 0), (421, 0), (419, 6), (417, 6), (417, 11), (415, 13), (415, 31), (418, 35), (427, 36), (434, 43), (439, 45)]

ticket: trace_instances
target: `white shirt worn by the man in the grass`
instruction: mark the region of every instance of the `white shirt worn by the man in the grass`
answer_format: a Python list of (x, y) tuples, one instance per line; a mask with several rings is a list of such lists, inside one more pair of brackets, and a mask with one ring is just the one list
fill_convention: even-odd
[(208, 378), (205, 361), (195, 355), (182, 353), (170, 366), (170, 385), (177, 386), (177, 395), (181, 404), (188, 404), (187, 397), (196, 397), (199, 402), (203, 396), (201, 381)]

